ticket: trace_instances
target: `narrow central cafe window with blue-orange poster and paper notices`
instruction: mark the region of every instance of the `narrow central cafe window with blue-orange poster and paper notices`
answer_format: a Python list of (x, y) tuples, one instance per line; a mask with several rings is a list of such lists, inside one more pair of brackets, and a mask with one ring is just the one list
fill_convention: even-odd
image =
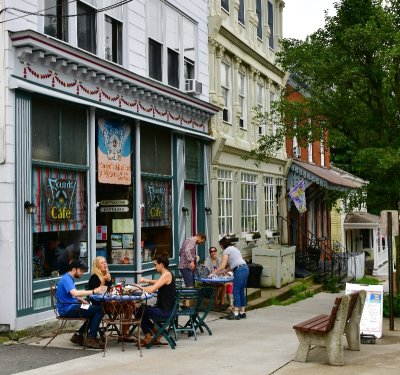
[(96, 255), (110, 264), (133, 264), (134, 189), (131, 126), (97, 120)]

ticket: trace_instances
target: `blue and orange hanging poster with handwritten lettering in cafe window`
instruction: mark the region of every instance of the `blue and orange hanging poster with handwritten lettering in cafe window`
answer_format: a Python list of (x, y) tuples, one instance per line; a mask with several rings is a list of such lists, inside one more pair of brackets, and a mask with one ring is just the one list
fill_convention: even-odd
[(131, 184), (131, 129), (121, 121), (98, 121), (98, 180), (103, 184)]

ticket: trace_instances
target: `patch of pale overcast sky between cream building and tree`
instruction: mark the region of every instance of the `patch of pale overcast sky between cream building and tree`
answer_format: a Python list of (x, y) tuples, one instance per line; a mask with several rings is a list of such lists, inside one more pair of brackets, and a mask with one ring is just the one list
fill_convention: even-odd
[(324, 10), (334, 15), (335, 0), (284, 0), (283, 37), (305, 39), (324, 26)]

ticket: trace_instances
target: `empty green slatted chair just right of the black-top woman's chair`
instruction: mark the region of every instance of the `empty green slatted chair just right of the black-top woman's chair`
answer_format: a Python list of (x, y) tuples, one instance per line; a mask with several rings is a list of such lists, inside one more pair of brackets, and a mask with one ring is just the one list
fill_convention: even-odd
[[(175, 340), (178, 340), (178, 332), (188, 332), (189, 336), (196, 336), (196, 309), (199, 301), (199, 289), (198, 288), (179, 288), (180, 304), (179, 308), (175, 313), (175, 319), (172, 321), (172, 328), (175, 334)], [(190, 306), (184, 306), (183, 304), (189, 304)], [(181, 325), (179, 324), (179, 318), (187, 319), (186, 322)]]

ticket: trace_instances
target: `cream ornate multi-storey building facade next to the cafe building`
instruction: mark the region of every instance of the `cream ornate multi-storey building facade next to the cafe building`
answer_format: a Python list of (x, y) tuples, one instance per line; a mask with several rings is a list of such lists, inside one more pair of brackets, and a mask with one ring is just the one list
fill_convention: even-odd
[(285, 232), (278, 220), (286, 216), (284, 147), (268, 163), (243, 159), (275, 132), (255, 115), (269, 111), (285, 85), (275, 64), (283, 8), (280, 0), (209, 1), (210, 101), (221, 108), (211, 121), (212, 233), (216, 241), (236, 236), (247, 258)]

